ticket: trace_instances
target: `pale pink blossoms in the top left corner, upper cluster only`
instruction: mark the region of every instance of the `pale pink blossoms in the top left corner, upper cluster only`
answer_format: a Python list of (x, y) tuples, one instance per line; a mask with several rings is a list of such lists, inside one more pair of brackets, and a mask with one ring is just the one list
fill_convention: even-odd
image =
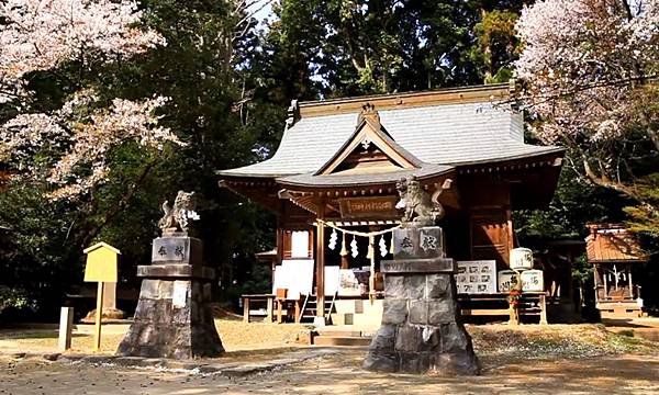
[[(5, 0), (0, 2), (0, 92), (16, 92), (20, 78), (91, 52), (130, 55), (165, 44), (133, 25), (142, 13), (134, 1)], [(12, 90), (13, 89), (13, 90)]]

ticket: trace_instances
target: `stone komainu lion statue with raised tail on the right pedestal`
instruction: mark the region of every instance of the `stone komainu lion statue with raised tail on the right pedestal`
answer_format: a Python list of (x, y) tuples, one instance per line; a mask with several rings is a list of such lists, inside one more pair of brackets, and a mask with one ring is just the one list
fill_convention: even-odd
[(449, 189), (451, 183), (451, 179), (446, 179), (442, 188), (438, 188), (431, 196), (423, 190), (415, 177), (400, 179), (395, 183), (395, 189), (401, 200), (395, 207), (404, 210), (401, 225), (404, 227), (436, 225), (437, 221), (444, 217), (444, 207), (439, 203), (439, 195)]

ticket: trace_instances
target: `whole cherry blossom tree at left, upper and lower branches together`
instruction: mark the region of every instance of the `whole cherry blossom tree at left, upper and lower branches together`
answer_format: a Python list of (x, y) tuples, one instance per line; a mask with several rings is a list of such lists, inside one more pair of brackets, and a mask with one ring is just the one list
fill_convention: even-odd
[(79, 68), (112, 63), (165, 45), (156, 32), (137, 27), (141, 16), (130, 0), (0, 3), (0, 102), (19, 112), (0, 124), (0, 160), (12, 163), (19, 177), (45, 176), (56, 187), (51, 199), (74, 199), (105, 181), (111, 170), (105, 156), (115, 146), (135, 142), (161, 150), (168, 142), (181, 144), (158, 126), (161, 97), (114, 99), (102, 106), (93, 89), (80, 87), (60, 109), (43, 112), (30, 105), (33, 72), (56, 70), (67, 61)]

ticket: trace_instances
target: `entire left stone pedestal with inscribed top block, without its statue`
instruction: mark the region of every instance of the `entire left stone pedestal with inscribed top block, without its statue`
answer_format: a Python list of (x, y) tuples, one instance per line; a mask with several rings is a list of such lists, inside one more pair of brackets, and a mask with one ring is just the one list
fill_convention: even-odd
[(201, 241), (174, 235), (154, 240), (142, 280), (135, 320), (118, 354), (190, 359), (224, 352), (211, 306), (214, 271), (201, 263)]

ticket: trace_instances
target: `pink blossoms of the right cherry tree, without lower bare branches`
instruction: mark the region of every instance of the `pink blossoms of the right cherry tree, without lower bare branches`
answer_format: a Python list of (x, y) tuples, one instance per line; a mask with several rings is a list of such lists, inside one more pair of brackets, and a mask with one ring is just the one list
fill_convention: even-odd
[(644, 97), (659, 72), (659, 1), (544, 0), (517, 23), (524, 50), (516, 63), (528, 82), (528, 103), (546, 122), (546, 143), (570, 146), (646, 129)]

